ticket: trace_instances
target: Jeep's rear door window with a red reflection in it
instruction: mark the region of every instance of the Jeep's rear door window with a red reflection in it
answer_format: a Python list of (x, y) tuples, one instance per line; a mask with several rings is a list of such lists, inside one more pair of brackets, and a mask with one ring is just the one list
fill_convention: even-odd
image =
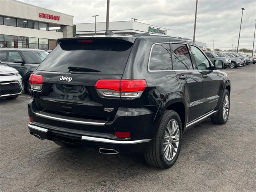
[(185, 44), (172, 44), (172, 54), (176, 61), (176, 69), (193, 69), (188, 48)]

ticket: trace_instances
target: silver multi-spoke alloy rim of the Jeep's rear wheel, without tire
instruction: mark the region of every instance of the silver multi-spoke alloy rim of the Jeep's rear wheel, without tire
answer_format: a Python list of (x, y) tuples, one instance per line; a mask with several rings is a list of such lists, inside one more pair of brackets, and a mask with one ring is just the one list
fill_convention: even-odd
[(163, 141), (163, 152), (166, 160), (172, 160), (178, 151), (180, 142), (180, 126), (175, 119), (168, 122)]

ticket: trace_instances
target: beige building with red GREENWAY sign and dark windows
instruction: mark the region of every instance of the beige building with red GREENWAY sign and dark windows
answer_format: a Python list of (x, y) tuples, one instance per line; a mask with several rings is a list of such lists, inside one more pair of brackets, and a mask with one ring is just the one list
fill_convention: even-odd
[(47, 50), (56, 46), (58, 38), (72, 36), (73, 16), (15, 0), (1, 0), (1, 48)]

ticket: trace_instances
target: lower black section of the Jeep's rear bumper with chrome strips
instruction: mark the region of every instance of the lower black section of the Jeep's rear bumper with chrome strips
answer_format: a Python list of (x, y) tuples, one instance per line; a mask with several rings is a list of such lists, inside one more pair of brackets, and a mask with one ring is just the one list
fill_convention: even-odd
[[(36, 134), (40, 139), (58, 140), (69, 143), (76, 143), (89, 148), (98, 150), (99, 148), (110, 148), (120, 153), (134, 153), (134, 152), (146, 152), (153, 142), (152, 139), (141, 140), (113, 140), (110, 138), (104, 138), (99, 133), (89, 132), (67, 132), (65, 129), (62, 131), (56, 127), (46, 128), (47, 125), (41, 124), (40, 126), (30, 122), (28, 124), (30, 134)], [(61, 128), (59, 128), (61, 129)]]

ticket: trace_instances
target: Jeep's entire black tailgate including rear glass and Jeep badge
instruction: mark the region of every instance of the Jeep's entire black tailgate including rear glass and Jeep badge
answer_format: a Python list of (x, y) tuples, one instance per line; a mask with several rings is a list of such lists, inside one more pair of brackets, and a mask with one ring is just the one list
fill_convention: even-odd
[[(41, 92), (34, 92), (38, 112), (113, 120), (120, 98), (105, 98), (94, 88), (99, 79), (121, 79), (133, 43), (118, 38), (67, 38), (40, 64)], [(71, 67), (71, 68), (70, 68)]]

